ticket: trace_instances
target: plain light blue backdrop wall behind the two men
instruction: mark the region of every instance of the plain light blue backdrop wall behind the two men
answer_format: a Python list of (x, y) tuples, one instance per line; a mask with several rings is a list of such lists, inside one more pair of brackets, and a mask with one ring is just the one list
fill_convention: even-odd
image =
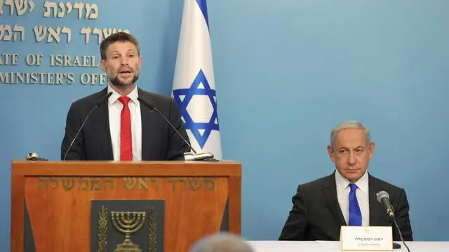
[[(71, 102), (106, 86), (99, 67), (51, 66), (51, 55), (98, 64), (98, 34), (128, 29), (141, 43), (140, 87), (170, 94), (183, 1), (2, 2), (0, 247), (9, 248), (11, 159), (59, 160)], [(449, 241), (449, 1), (208, 1), (208, 14), (222, 153), (243, 164), (244, 237), (277, 239), (297, 184), (333, 172), (330, 130), (360, 120), (377, 144), (369, 171), (406, 188), (415, 239)]]

